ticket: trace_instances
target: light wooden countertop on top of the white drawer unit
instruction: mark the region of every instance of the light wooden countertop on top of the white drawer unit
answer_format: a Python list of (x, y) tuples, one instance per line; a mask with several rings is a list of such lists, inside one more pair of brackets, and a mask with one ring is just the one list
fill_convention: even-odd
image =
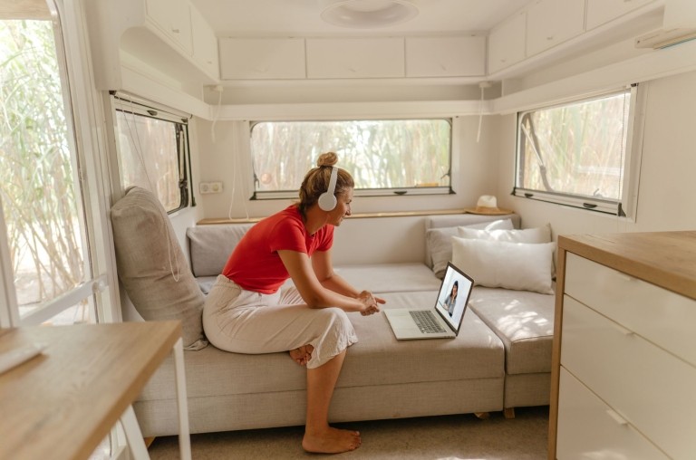
[(558, 247), (696, 299), (696, 231), (559, 235)]

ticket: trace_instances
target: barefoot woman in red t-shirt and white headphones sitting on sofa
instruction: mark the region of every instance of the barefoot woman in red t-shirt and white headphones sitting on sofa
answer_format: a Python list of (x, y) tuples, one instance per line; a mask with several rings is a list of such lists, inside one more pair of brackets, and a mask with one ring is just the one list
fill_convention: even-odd
[[(237, 353), (289, 350), (295, 362), (306, 366), (302, 446), (308, 452), (326, 454), (361, 444), (358, 432), (328, 424), (346, 349), (358, 340), (346, 312), (370, 315), (384, 303), (333, 273), (333, 227), (351, 215), (354, 187), (353, 177), (333, 166), (337, 160), (333, 152), (320, 156), (317, 168), (304, 177), (299, 203), (248, 230), (203, 308), (206, 336), (219, 349)], [(326, 193), (334, 169), (335, 193)], [(326, 198), (333, 208), (326, 206)], [(295, 288), (281, 291), (288, 277)]]

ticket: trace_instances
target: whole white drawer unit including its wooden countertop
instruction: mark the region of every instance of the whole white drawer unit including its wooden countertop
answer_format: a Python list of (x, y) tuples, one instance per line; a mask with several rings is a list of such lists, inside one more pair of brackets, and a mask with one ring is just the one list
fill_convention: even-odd
[(558, 238), (550, 459), (696, 458), (696, 232)]

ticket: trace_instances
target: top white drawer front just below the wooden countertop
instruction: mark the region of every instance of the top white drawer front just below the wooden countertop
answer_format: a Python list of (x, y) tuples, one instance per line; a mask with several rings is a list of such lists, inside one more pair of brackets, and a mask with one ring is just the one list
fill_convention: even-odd
[(696, 366), (696, 301), (571, 253), (565, 293)]

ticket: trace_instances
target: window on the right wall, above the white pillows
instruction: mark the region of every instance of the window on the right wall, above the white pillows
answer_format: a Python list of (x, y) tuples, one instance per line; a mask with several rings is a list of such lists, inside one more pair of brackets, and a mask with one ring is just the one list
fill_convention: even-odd
[(519, 113), (514, 194), (623, 216), (634, 91)]

